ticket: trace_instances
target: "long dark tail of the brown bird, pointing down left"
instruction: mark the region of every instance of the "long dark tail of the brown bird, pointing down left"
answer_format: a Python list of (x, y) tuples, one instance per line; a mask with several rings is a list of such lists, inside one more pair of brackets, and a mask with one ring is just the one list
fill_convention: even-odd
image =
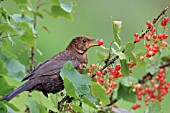
[(37, 85), (37, 83), (35, 82), (26, 82), (25, 84), (23, 84), (22, 86), (20, 86), (19, 88), (15, 89), (14, 91), (10, 92), (8, 95), (4, 96), (1, 101), (3, 100), (11, 100), (12, 98), (14, 98), (15, 96), (17, 96), (18, 94), (20, 94), (23, 91), (29, 91), (32, 88), (34, 88)]

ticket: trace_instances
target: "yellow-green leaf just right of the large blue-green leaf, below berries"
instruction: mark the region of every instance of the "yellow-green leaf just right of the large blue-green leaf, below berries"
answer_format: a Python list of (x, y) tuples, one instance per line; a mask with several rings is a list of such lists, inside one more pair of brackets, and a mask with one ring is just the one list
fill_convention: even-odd
[(91, 81), (90, 86), (91, 86), (91, 93), (94, 97), (102, 101), (104, 105), (109, 104), (109, 98), (105, 90), (97, 82)]

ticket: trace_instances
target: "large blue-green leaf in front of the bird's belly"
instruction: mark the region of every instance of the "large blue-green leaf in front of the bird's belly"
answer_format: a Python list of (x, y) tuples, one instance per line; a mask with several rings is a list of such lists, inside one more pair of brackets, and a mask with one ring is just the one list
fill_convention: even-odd
[(71, 62), (66, 62), (63, 66), (60, 75), (62, 79), (65, 77), (73, 84), (78, 95), (85, 95), (90, 92), (91, 77), (82, 75), (72, 66)]

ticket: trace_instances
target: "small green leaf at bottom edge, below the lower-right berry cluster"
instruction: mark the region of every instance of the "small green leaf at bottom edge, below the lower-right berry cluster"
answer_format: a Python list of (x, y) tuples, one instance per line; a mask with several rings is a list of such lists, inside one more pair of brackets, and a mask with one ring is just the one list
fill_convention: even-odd
[(161, 105), (158, 101), (151, 103), (145, 113), (163, 113), (161, 110)]

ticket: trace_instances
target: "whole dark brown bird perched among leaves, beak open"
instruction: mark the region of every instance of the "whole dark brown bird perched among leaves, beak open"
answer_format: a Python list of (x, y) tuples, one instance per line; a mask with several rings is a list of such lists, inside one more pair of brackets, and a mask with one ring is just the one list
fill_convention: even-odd
[(99, 46), (99, 44), (92, 44), (95, 40), (97, 39), (87, 36), (74, 38), (64, 51), (38, 65), (22, 79), (22, 81), (28, 80), (25, 84), (4, 96), (1, 100), (9, 101), (23, 91), (38, 90), (48, 97), (48, 93), (63, 90), (64, 85), (60, 77), (60, 70), (63, 65), (67, 61), (71, 61), (75, 69), (81, 73), (87, 65), (87, 50), (92, 46)]

